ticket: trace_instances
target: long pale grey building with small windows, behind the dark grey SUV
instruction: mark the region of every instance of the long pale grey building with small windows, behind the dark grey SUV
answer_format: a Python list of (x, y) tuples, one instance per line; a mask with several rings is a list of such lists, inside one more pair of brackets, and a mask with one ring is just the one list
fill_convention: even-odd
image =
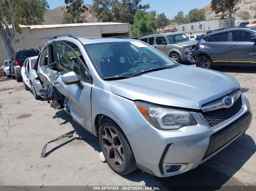
[[(235, 18), (232, 18), (233, 27)], [(228, 18), (198, 21), (193, 23), (178, 24), (178, 32), (185, 34), (206, 33), (208, 30), (227, 28)]]

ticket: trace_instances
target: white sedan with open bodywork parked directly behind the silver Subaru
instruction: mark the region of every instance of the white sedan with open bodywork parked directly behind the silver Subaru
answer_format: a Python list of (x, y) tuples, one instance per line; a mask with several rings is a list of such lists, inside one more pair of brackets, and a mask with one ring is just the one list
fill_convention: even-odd
[(44, 92), (42, 84), (34, 70), (35, 62), (38, 56), (33, 56), (25, 59), (24, 65), (21, 68), (21, 77), (25, 90), (31, 90), (35, 99), (41, 98), (41, 93)]

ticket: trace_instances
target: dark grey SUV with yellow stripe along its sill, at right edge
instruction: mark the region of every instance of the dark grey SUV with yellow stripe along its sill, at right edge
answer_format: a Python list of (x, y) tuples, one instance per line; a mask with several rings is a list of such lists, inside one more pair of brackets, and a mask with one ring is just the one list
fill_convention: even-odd
[(196, 66), (256, 65), (256, 31), (231, 27), (209, 32), (198, 42), (194, 51)]

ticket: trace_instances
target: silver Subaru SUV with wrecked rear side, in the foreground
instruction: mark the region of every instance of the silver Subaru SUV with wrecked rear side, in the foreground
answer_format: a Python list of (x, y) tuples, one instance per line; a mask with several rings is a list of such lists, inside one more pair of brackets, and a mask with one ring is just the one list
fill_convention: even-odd
[[(58, 36), (35, 64), (44, 95), (99, 137), (118, 174), (184, 173), (251, 123), (249, 102), (227, 74), (180, 65), (138, 40)], [(157, 59), (142, 62), (134, 51)]]

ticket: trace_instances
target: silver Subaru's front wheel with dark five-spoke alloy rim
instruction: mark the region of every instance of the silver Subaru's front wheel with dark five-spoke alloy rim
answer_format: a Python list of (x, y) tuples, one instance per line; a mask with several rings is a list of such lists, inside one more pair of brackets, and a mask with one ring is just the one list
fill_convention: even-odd
[(102, 119), (99, 139), (108, 166), (115, 173), (125, 175), (138, 168), (128, 139), (121, 128), (110, 118)]

